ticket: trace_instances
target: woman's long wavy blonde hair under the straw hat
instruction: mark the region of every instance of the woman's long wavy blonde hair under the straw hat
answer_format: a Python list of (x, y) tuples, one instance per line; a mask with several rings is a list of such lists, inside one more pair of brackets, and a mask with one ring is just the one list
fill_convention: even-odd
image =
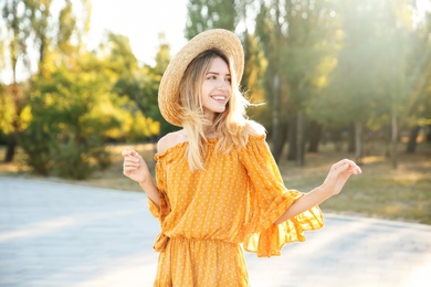
[[(231, 97), (223, 113), (217, 114), (214, 121), (204, 118), (201, 102), (201, 86), (214, 57), (221, 57), (229, 66), (231, 74)], [(236, 83), (233, 63), (219, 50), (211, 49), (199, 54), (187, 67), (180, 86), (181, 123), (188, 137), (187, 158), (191, 170), (202, 170), (206, 157), (206, 135), (220, 136), (216, 151), (229, 152), (233, 145), (244, 147), (249, 139), (250, 128), (245, 109), (249, 100), (242, 95)], [(260, 125), (259, 125), (260, 126)], [(261, 126), (260, 126), (261, 127)], [(263, 129), (263, 127), (262, 127)]]

